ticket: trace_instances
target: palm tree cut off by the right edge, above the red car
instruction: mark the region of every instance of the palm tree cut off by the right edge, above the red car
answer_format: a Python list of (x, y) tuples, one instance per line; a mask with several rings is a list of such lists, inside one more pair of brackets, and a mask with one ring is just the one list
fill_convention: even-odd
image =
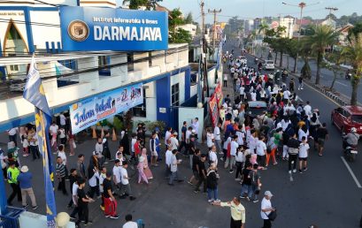
[(350, 64), (353, 67), (352, 78), (350, 80), (352, 85), (350, 105), (357, 105), (357, 91), (362, 74), (362, 33), (350, 35), (348, 45), (343, 49), (343, 54), (349, 58)]

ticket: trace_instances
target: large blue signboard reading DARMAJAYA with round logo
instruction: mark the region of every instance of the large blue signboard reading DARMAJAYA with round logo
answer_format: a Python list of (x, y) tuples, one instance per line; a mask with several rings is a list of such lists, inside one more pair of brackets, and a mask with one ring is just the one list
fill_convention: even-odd
[(168, 45), (165, 11), (60, 7), (62, 49), (160, 50)]

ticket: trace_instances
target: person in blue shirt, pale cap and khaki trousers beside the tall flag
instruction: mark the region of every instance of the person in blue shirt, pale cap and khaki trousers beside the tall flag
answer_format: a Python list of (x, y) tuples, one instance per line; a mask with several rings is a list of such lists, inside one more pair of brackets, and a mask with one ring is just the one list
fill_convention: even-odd
[(33, 174), (29, 172), (27, 165), (23, 165), (20, 171), (21, 172), (17, 180), (19, 181), (23, 208), (26, 209), (27, 206), (29, 205), (27, 204), (27, 195), (28, 195), (30, 197), (30, 201), (32, 202), (33, 209), (37, 209), (38, 205), (36, 204), (35, 201), (35, 194), (31, 182), (33, 179)]

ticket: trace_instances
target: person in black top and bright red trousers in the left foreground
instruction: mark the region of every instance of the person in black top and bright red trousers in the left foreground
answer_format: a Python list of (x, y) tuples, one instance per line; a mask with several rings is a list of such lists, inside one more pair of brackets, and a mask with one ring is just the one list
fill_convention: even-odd
[(105, 179), (103, 181), (104, 189), (104, 217), (110, 217), (113, 219), (119, 218), (117, 215), (117, 201), (114, 198), (113, 188), (112, 188), (112, 171), (107, 171), (105, 174)]

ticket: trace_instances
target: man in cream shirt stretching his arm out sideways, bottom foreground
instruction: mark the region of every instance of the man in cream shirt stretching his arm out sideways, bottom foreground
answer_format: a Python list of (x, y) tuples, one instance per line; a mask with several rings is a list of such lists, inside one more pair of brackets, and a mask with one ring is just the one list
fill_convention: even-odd
[(212, 205), (220, 207), (229, 207), (231, 212), (230, 228), (244, 228), (245, 208), (236, 197), (232, 201), (213, 201)]

